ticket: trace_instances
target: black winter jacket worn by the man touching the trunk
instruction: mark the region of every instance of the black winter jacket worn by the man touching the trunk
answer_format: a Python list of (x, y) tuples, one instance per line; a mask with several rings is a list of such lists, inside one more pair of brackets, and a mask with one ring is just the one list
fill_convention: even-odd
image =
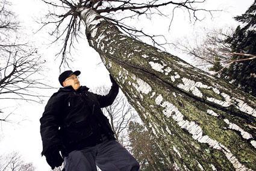
[(115, 139), (101, 108), (113, 104), (119, 92), (118, 85), (113, 84), (105, 96), (88, 90), (86, 86), (81, 86), (75, 91), (69, 86), (60, 88), (51, 96), (40, 118), (42, 155), (57, 147), (67, 155), (73, 150), (95, 146), (101, 141), (101, 134)]

